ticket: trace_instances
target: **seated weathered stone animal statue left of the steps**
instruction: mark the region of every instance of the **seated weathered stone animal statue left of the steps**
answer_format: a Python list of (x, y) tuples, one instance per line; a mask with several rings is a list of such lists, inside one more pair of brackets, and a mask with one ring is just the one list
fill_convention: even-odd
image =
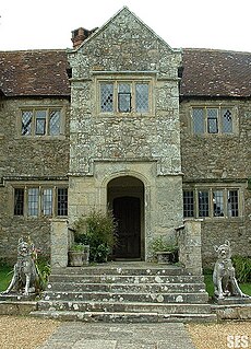
[(24, 295), (39, 291), (39, 276), (35, 259), (34, 244), (25, 242), (21, 237), (17, 245), (17, 261), (14, 265), (14, 275), (10, 286), (2, 294), (8, 294), (12, 290), (24, 293)]

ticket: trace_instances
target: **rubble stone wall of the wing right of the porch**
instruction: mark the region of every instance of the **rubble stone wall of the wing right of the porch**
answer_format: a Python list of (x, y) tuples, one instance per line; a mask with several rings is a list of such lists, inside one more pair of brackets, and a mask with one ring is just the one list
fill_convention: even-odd
[[(191, 132), (191, 106), (229, 105), (236, 112), (235, 135), (195, 136)], [(214, 245), (230, 240), (232, 255), (250, 255), (251, 191), (251, 102), (237, 100), (188, 100), (180, 104), (181, 159), (183, 186), (240, 188), (240, 217), (206, 218), (202, 222), (202, 256), (204, 266), (212, 266)]]

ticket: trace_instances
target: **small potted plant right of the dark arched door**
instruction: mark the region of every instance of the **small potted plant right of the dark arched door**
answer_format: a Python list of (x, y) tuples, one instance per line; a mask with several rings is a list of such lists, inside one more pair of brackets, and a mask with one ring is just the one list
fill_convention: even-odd
[(164, 241), (163, 236), (156, 237), (152, 243), (152, 251), (158, 264), (174, 264), (179, 259), (179, 247)]

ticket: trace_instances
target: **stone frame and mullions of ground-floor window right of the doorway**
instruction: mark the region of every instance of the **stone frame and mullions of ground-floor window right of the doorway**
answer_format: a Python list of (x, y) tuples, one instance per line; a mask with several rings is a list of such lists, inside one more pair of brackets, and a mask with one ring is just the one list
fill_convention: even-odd
[[(229, 191), (237, 191), (238, 193), (238, 216), (229, 216), (228, 214), (228, 193)], [(198, 218), (203, 220), (214, 220), (214, 221), (222, 221), (222, 220), (239, 220), (243, 218), (244, 211), (244, 184), (225, 184), (225, 183), (215, 183), (215, 184), (193, 184), (188, 185), (184, 184), (183, 186), (183, 211), (184, 211), (184, 191), (189, 193), (189, 206), (190, 206), (190, 216), (184, 216), (184, 218)], [(200, 216), (199, 213), (199, 193), (207, 191), (208, 193), (208, 216)], [(215, 214), (214, 203), (214, 193), (223, 191), (223, 216)], [(193, 202), (191, 202), (191, 193), (193, 193)], [(193, 209), (193, 216), (191, 211)], [(232, 209), (234, 210), (234, 209)]]

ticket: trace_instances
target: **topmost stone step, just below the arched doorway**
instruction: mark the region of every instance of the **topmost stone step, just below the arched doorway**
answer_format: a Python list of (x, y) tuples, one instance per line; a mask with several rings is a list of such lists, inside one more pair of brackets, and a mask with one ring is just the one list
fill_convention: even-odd
[(157, 264), (151, 264), (148, 267), (140, 267), (132, 265), (129, 267), (122, 266), (122, 264), (117, 264), (112, 266), (112, 263), (101, 264), (95, 266), (85, 267), (65, 267), (65, 268), (52, 268), (51, 274), (58, 275), (121, 275), (121, 276), (171, 276), (171, 275), (188, 275), (187, 270), (174, 266), (165, 265), (159, 266)]

